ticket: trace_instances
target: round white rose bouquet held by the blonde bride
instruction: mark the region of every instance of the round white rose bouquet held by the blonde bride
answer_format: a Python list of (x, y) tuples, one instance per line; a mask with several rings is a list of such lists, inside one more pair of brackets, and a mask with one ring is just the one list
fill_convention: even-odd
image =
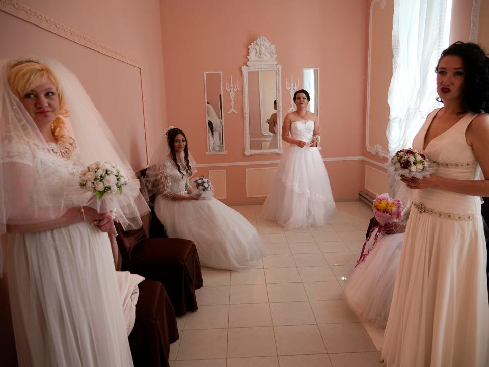
[(80, 172), (79, 185), (95, 194), (100, 200), (106, 193), (122, 195), (122, 188), (129, 182), (124, 171), (109, 162), (95, 162)]

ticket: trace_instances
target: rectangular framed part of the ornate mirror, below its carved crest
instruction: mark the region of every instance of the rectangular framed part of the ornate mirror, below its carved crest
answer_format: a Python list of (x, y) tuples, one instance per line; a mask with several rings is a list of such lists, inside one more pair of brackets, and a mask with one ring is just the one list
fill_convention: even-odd
[(280, 65), (243, 66), (244, 154), (282, 153)]

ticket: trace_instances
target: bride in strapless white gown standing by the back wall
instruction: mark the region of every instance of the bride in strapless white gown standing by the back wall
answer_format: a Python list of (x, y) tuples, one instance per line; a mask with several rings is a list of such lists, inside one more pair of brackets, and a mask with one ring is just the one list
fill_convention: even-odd
[(287, 229), (322, 227), (335, 212), (328, 173), (316, 147), (320, 139), (317, 116), (306, 110), (309, 101), (306, 90), (295, 92), (297, 110), (285, 116), (282, 126), (282, 140), (289, 146), (262, 207), (264, 219)]

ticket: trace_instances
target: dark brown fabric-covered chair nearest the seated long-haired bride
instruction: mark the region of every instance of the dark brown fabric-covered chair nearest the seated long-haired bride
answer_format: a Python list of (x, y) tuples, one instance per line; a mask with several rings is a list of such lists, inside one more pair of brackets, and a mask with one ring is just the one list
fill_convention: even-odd
[(202, 287), (199, 255), (190, 240), (146, 238), (144, 229), (124, 231), (115, 223), (122, 271), (165, 286), (177, 315), (197, 310), (195, 290)]

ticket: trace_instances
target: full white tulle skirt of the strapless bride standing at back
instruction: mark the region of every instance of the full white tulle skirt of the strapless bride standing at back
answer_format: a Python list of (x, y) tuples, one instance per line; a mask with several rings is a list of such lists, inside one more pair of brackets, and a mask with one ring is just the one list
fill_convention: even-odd
[(333, 218), (335, 201), (317, 148), (289, 145), (261, 210), (262, 218), (286, 228), (323, 226)]

